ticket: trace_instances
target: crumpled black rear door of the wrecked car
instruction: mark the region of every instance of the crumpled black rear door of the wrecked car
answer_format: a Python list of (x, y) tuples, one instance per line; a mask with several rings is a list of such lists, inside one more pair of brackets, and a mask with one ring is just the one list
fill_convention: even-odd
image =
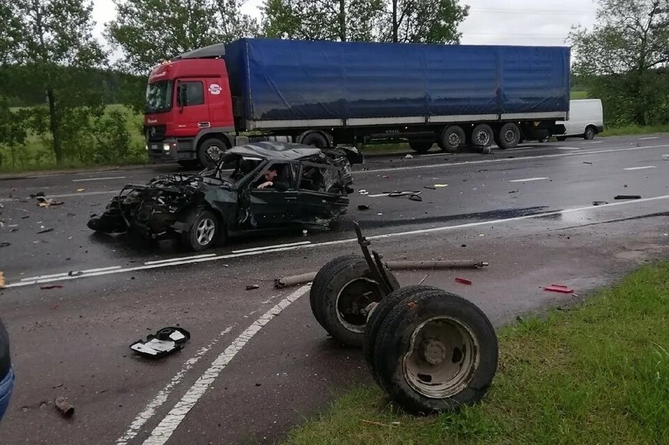
[(335, 166), (303, 162), (298, 182), (300, 222), (323, 226), (346, 212), (348, 196)]

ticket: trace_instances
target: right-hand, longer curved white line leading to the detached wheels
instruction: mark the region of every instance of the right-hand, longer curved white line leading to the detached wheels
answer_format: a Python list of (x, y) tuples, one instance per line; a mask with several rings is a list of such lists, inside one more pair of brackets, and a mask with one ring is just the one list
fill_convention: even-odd
[(178, 428), (185, 416), (195, 406), (198, 400), (206, 393), (211, 384), (217, 379), (222, 370), (230, 363), (230, 361), (249, 343), (249, 341), (259, 333), (263, 326), (275, 318), (279, 313), (295, 302), (298, 298), (305, 295), (311, 286), (302, 286), (295, 290), (291, 295), (282, 299), (276, 306), (264, 313), (261, 318), (254, 321), (252, 325), (247, 327), (235, 340), (229, 345), (216, 359), (211, 366), (204, 371), (199, 379), (192, 387), (185, 393), (183, 398), (179, 400), (174, 408), (167, 413), (167, 416), (160, 421), (157, 427), (151, 432), (151, 436), (144, 441), (144, 445), (163, 445), (169, 440), (174, 430)]

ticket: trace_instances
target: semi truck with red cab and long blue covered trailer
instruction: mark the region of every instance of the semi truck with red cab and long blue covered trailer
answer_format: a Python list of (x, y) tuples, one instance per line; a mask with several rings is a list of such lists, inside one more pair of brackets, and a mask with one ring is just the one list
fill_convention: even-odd
[(455, 152), (563, 134), (568, 47), (245, 38), (176, 56), (148, 77), (155, 162), (209, 166), (256, 140), (318, 148), (408, 141)]

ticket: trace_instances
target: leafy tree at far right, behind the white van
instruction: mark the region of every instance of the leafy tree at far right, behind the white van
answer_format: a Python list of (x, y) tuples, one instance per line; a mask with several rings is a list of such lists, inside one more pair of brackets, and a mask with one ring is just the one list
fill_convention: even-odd
[(599, 0), (591, 30), (572, 30), (574, 71), (608, 122), (669, 122), (669, 0)]

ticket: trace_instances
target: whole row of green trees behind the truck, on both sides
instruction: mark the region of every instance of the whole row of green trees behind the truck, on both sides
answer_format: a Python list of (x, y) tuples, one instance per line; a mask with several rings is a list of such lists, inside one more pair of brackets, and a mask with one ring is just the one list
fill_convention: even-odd
[[(469, 13), (460, 0), (265, 0), (256, 19), (238, 0), (113, 1), (100, 42), (91, 0), (0, 0), (0, 167), (29, 140), (40, 143), (31, 156), (56, 164), (143, 157), (139, 124), (105, 105), (141, 113), (148, 71), (198, 47), (252, 36), (452, 44)], [(597, 24), (570, 42), (574, 78), (608, 123), (669, 123), (669, 0), (599, 0)]]

